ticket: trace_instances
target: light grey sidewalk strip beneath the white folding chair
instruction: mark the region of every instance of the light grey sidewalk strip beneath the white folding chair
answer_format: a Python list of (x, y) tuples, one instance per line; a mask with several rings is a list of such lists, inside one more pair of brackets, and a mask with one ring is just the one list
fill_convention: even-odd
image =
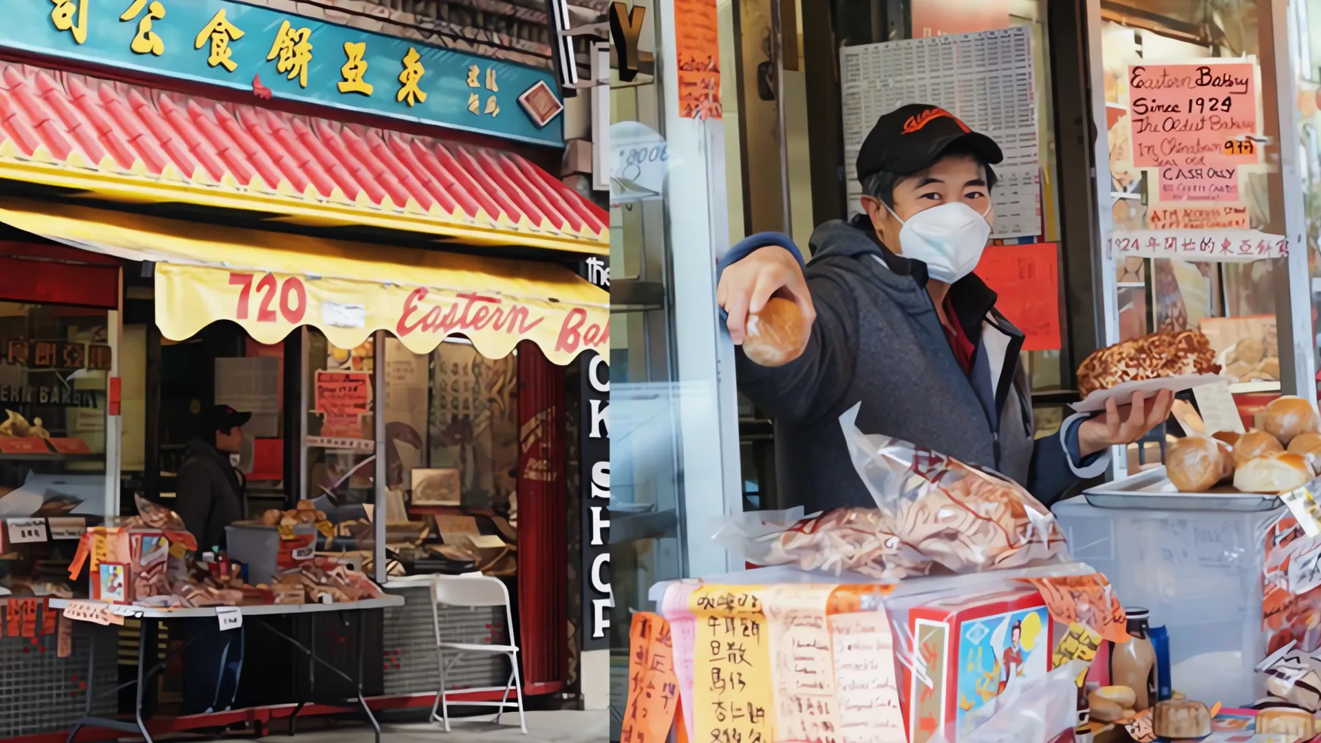
[[(539, 711), (527, 713), (527, 735), (518, 728), (518, 713), (505, 713), (495, 726), (490, 719), (468, 718), (473, 722), (450, 719), (449, 732), (436, 724), (387, 724), (382, 727), (380, 743), (601, 743), (610, 732), (610, 715), (600, 711)], [(264, 743), (371, 743), (371, 728), (366, 723), (341, 724), (336, 730), (299, 731), (289, 738), (284, 732), (259, 738)]]

